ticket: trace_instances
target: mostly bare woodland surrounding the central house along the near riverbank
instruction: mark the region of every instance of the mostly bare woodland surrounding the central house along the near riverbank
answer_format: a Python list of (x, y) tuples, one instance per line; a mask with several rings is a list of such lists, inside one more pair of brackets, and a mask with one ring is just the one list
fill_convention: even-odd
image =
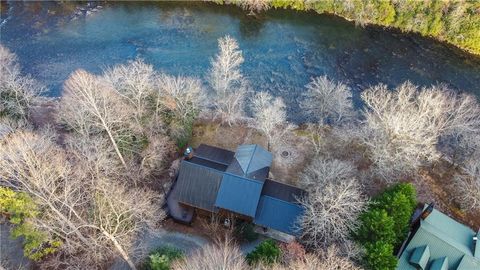
[[(0, 212), (24, 255), (41, 269), (107, 269), (116, 257), (131, 269), (395, 269), (417, 202), (480, 225), (475, 96), (406, 81), (364, 89), (358, 109), (346, 84), (318, 76), (302, 93), (308, 122), (294, 124), (281, 97), (251, 88), (244, 61), (227, 35), (205, 77), (136, 59), (77, 70), (51, 99), (1, 46)], [(172, 162), (208, 126), (248, 130), (275, 159), (299, 149), (301, 164), (277, 164), (308, 191), (298, 242), (244, 256), (234, 232), (209, 224), (212, 243), (193, 254), (142, 248), (139, 236), (164, 224)]]

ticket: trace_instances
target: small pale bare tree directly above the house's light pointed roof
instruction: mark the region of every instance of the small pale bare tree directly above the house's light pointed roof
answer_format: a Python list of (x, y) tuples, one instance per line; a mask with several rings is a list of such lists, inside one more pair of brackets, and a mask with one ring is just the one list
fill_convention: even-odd
[(252, 98), (251, 107), (255, 118), (255, 128), (267, 138), (268, 150), (276, 145), (286, 132), (293, 129), (287, 122), (285, 103), (282, 98), (274, 98), (267, 92), (258, 92)]

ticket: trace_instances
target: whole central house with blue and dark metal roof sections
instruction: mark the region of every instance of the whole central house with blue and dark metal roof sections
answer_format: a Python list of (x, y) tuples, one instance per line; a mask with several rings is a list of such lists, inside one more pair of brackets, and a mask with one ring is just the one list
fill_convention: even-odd
[(167, 203), (170, 215), (190, 223), (195, 214), (253, 222), (264, 230), (298, 234), (303, 213), (300, 188), (268, 178), (272, 154), (259, 145), (240, 145), (236, 152), (200, 145), (182, 160)]

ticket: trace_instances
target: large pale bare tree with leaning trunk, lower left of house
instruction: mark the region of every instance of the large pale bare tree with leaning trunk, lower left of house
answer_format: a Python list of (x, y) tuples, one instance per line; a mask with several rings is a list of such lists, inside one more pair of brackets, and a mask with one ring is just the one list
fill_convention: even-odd
[(118, 254), (135, 269), (134, 237), (164, 217), (162, 198), (111, 181), (92, 166), (67, 158), (46, 135), (17, 131), (0, 147), (0, 179), (34, 199), (41, 214), (32, 224), (62, 242), (65, 256), (56, 265), (76, 268), (69, 260), (82, 258), (79, 268), (89, 268)]

